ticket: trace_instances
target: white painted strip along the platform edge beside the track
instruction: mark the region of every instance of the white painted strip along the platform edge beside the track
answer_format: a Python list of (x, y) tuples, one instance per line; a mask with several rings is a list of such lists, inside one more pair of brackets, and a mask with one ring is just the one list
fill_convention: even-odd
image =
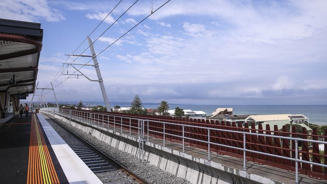
[(65, 143), (45, 118), (37, 113), (42, 128), (69, 183), (102, 183), (92, 170)]

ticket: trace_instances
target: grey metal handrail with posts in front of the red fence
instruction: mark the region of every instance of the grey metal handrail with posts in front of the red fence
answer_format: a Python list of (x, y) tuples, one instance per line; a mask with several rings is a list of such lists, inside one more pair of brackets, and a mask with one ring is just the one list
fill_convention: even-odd
[[(208, 144), (208, 160), (211, 159), (210, 158), (210, 145), (217, 145), (217, 146), (222, 146), (222, 147), (227, 147), (227, 148), (242, 150), (243, 151), (243, 170), (244, 171), (246, 170), (246, 152), (252, 152), (252, 153), (263, 154), (263, 155), (267, 155), (267, 156), (272, 156), (272, 157), (277, 157), (277, 158), (292, 160), (292, 161), (295, 161), (295, 183), (298, 183), (298, 162), (312, 164), (312, 165), (317, 165), (317, 166), (321, 166), (321, 167), (327, 168), (327, 165), (325, 165), (325, 164), (315, 163), (315, 162), (311, 162), (311, 161), (306, 161), (306, 160), (298, 159), (298, 153), (299, 153), (299, 151), (298, 151), (298, 142), (299, 141), (312, 142), (312, 143), (320, 143), (320, 144), (327, 144), (327, 142), (325, 142), (325, 141), (302, 139), (302, 138), (295, 138), (295, 137), (285, 137), (285, 136), (277, 136), (277, 135), (269, 135), (269, 134), (260, 134), (260, 133), (253, 133), (253, 132), (243, 132), (243, 131), (235, 131), (235, 130), (217, 129), (217, 128), (201, 127), (201, 126), (186, 125), (186, 124), (175, 124), (175, 123), (169, 123), (169, 122), (163, 122), (163, 121), (148, 120), (148, 119), (146, 119), (146, 117), (140, 117), (139, 119), (137, 119), (137, 118), (130, 118), (130, 117), (125, 117), (125, 116), (116, 116), (116, 115), (101, 114), (101, 113), (86, 112), (86, 111), (78, 111), (78, 110), (70, 110), (70, 109), (60, 109), (58, 113), (60, 114), (60, 112), (63, 113), (63, 114), (61, 114), (63, 116), (69, 114), (69, 118), (71, 118), (71, 112), (74, 112), (74, 113), (76, 112), (74, 114), (75, 116), (76, 116), (76, 114), (80, 113), (77, 116), (80, 117), (80, 118), (87, 118), (87, 119), (91, 120), (91, 124), (90, 124), (91, 126), (95, 126), (95, 121), (96, 120), (98, 121), (98, 126), (99, 126), (99, 122), (101, 122), (101, 121), (102, 121), (102, 123), (106, 122), (106, 123), (108, 123), (107, 130), (109, 130), (109, 123), (112, 123), (114, 125), (114, 132), (115, 132), (115, 125), (120, 125), (121, 126), (121, 133), (122, 133), (123, 126), (124, 127), (129, 127), (129, 133), (130, 133), (130, 135), (131, 135), (131, 128), (137, 128), (137, 130), (138, 130), (139, 143), (141, 143), (141, 140), (143, 141), (143, 138), (144, 138), (144, 122), (147, 122), (147, 141), (149, 141), (149, 139), (148, 139), (149, 132), (162, 134), (162, 136), (163, 136), (163, 146), (165, 146), (165, 137), (166, 137), (166, 135), (174, 136), (174, 137), (179, 137), (179, 138), (182, 138), (183, 139), (183, 143), (182, 143), (183, 144), (183, 152), (185, 151), (185, 148), (184, 148), (185, 147), (185, 139), (207, 143)], [(88, 115), (88, 116), (86, 116), (86, 115)], [(98, 118), (97, 119), (95, 118), (95, 115), (98, 115)], [(100, 116), (99, 115), (102, 116), (102, 120), (100, 119)], [(104, 120), (104, 117), (107, 117), (108, 119), (107, 120)], [(114, 121), (110, 121), (109, 120), (109, 117), (114, 118)], [(120, 123), (117, 123), (116, 122), (116, 118), (119, 118), (120, 119)], [(129, 125), (124, 125), (123, 124), (123, 118), (124, 119), (129, 119), (129, 123), (130, 124)], [(80, 120), (80, 119), (77, 119), (76, 118), (76, 120)], [(131, 120), (137, 120), (138, 121), (138, 126), (137, 127), (131, 126)], [(92, 125), (92, 121), (93, 121), (93, 125)], [(148, 128), (149, 127), (149, 122), (150, 123), (160, 123), (160, 124), (162, 124), (163, 125), (162, 132), (155, 131), (155, 130), (149, 130), (149, 128)], [(126, 122), (124, 121), (124, 123), (126, 123)], [(190, 123), (192, 123), (192, 122), (190, 122)], [(166, 125), (181, 126), (182, 127), (182, 136), (171, 134), (171, 133), (167, 133), (165, 131), (166, 130), (165, 129)], [(200, 140), (200, 139), (194, 139), (194, 138), (190, 138), (190, 137), (185, 137), (185, 135), (184, 135), (185, 134), (185, 127), (206, 129), (207, 132), (208, 132), (208, 135), (207, 135), (208, 136), (208, 140), (207, 141), (204, 141), (204, 140)], [(104, 126), (103, 126), (103, 128), (104, 128)], [(212, 130), (212, 131), (222, 131), (222, 132), (230, 132), (230, 133), (242, 134), (243, 135), (243, 148), (210, 142), (210, 130)], [(255, 136), (264, 136), (264, 137), (272, 137), (272, 138), (293, 140), (295, 142), (295, 158), (285, 157), (285, 156), (281, 156), (281, 155), (276, 155), (276, 154), (271, 154), (271, 153), (264, 153), (264, 152), (260, 152), (260, 151), (255, 151), (255, 150), (247, 149), (246, 148), (246, 135), (255, 135)]]

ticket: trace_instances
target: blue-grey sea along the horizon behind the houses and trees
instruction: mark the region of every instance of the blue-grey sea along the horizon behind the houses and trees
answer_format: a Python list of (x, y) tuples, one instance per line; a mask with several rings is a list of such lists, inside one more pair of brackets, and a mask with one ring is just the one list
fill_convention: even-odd
[[(61, 102), (60, 104), (77, 104), (78, 102)], [(84, 102), (87, 105), (104, 105), (102, 102)], [(129, 102), (112, 102), (111, 106), (130, 107)], [(158, 107), (157, 103), (143, 103), (147, 109)], [(303, 114), (309, 118), (310, 123), (327, 125), (327, 105), (191, 105), (191, 104), (170, 104), (170, 109), (180, 107), (193, 111), (204, 111), (210, 115), (218, 107), (233, 108), (233, 114)]]

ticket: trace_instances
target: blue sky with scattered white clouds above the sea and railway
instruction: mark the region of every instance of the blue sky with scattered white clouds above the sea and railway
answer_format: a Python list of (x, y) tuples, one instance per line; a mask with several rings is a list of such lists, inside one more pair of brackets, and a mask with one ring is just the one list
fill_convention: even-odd
[[(65, 54), (118, 1), (1, 2), (0, 18), (38, 22), (44, 29), (40, 87), (53, 80), (58, 101), (103, 101), (98, 82), (79, 76), (60, 84), (67, 76), (55, 76), (65, 61), (90, 61)], [(153, 1), (152, 10), (165, 2)], [(123, 0), (90, 35), (98, 38), (96, 53), (151, 14), (151, 1), (139, 1), (101, 36), (133, 3)], [(172, 0), (97, 56), (109, 101), (130, 102), (137, 94), (154, 103), (326, 105), (326, 10), (325, 0)], [(87, 48), (84, 42), (74, 54)], [(74, 72), (68, 67), (59, 74), (67, 70)], [(81, 71), (97, 79), (94, 67)], [(53, 101), (53, 94), (46, 99)]]

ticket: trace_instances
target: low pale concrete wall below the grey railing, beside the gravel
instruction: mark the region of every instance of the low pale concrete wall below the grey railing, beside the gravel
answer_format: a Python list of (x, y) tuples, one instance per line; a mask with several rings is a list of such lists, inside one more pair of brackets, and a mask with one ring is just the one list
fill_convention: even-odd
[[(51, 113), (51, 115), (53, 114)], [(69, 124), (69, 119), (58, 114), (55, 114), (55, 117)], [(71, 125), (97, 137), (112, 147), (139, 156), (138, 139), (135, 137), (112, 130), (107, 131), (106, 128), (91, 127), (73, 120), (71, 120)], [(261, 175), (235, 169), (151, 142), (146, 142), (144, 149), (145, 160), (150, 164), (185, 178), (191, 183), (278, 183)]]

